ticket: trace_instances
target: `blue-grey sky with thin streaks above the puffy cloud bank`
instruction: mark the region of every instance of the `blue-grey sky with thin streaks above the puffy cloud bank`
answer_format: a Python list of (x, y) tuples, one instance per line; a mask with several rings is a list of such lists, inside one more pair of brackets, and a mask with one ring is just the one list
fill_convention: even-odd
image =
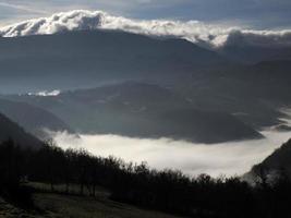
[(143, 20), (196, 20), (256, 29), (290, 27), (290, 0), (0, 0), (0, 25), (75, 9)]

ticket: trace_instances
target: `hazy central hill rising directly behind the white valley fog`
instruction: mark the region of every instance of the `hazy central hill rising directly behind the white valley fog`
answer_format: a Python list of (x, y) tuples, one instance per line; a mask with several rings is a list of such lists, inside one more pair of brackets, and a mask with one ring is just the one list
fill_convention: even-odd
[(233, 116), (197, 110), (187, 99), (154, 84), (126, 82), (54, 97), (11, 96), (62, 118), (83, 133), (172, 137), (218, 143), (262, 137)]

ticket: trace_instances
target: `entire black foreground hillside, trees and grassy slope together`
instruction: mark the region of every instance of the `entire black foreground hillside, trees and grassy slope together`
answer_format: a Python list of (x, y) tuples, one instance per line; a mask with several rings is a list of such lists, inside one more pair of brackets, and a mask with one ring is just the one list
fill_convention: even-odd
[[(291, 216), (287, 177), (251, 186), (239, 178), (189, 178), (180, 171), (150, 169), (145, 162), (126, 164), (53, 145), (21, 149), (12, 141), (0, 146), (0, 196), (37, 216), (51, 211), (74, 217), (84, 211), (93, 213), (92, 217), (143, 217), (142, 210), (124, 204), (144, 208), (144, 217), (153, 215), (146, 215), (149, 210), (202, 218)], [(107, 211), (116, 214), (102, 214)]]

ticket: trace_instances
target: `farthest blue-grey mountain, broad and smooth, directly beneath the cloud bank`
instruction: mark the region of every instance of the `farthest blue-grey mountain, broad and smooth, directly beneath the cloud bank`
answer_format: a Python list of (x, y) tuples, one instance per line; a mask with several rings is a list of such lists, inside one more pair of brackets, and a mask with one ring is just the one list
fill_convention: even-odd
[(228, 62), (216, 52), (183, 39), (109, 31), (0, 38), (0, 50), (3, 93), (96, 87)]

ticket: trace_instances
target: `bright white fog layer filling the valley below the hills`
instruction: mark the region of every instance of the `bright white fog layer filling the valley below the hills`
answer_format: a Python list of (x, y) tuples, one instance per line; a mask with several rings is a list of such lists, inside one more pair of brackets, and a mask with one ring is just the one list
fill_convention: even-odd
[(81, 135), (53, 133), (62, 148), (85, 148), (89, 153), (108, 157), (113, 155), (125, 161), (142, 162), (157, 169), (179, 169), (189, 175), (208, 173), (241, 175), (260, 162), (290, 137), (290, 132), (265, 131), (265, 140), (193, 144), (183, 141), (141, 140), (118, 135)]

